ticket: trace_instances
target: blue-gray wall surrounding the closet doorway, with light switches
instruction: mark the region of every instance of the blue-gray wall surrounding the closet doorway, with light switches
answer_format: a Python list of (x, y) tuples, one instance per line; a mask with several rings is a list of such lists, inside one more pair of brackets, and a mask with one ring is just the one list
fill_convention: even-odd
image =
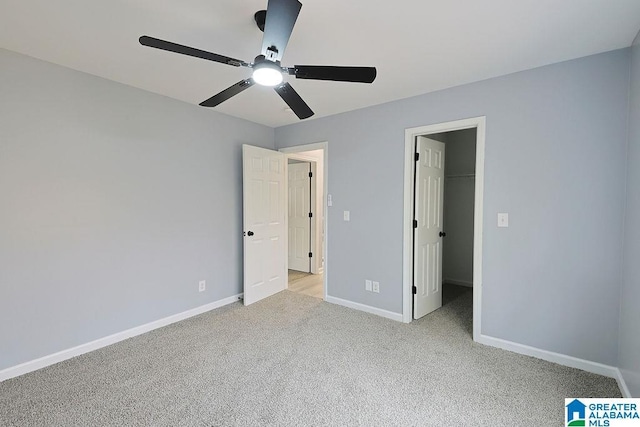
[(278, 147), (329, 141), (329, 294), (401, 312), (404, 131), (486, 116), (482, 333), (617, 365), (629, 61), (623, 49), (276, 129)]

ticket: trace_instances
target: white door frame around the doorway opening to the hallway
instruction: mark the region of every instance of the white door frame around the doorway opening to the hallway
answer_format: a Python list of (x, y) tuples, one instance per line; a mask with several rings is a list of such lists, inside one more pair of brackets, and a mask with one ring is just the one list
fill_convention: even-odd
[[(323, 274), (323, 299), (326, 301), (327, 296), (329, 295), (329, 221), (328, 221), (328, 206), (327, 206), (327, 195), (329, 194), (329, 143), (327, 141), (324, 142), (316, 142), (312, 144), (304, 144), (304, 145), (296, 145), (293, 147), (285, 147), (280, 148), (278, 151), (285, 153), (287, 157), (305, 160), (305, 161), (314, 161), (310, 158), (305, 158), (303, 156), (297, 155), (296, 153), (303, 153), (305, 151), (314, 151), (314, 150), (322, 150), (322, 203), (323, 203), (323, 213), (324, 213), (324, 221), (322, 226), (324, 227), (324, 245), (323, 245), (323, 253), (322, 256), (324, 258), (324, 266), (322, 267)], [(287, 165), (287, 175), (285, 176), (285, 182), (287, 183), (287, 191), (285, 191), (285, 206), (288, 207), (288, 165)], [(286, 226), (285, 230), (287, 233), (289, 232), (289, 218), (286, 216)], [(289, 236), (287, 235), (287, 239), (285, 239), (285, 254), (287, 256), (287, 268), (289, 267)]]

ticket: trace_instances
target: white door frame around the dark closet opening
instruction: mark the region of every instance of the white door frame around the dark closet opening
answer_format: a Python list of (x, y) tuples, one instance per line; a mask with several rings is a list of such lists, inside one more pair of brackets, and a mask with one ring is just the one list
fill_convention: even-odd
[(476, 129), (476, 177), (473, 213), (473, 340), (478, 341), (482, 319), (482, 227), (484, 195), (484, 151), (486, 117), (437, 123), (405, 129), (404, 143), (404, 218), (402, 250), (402, 321), (409, 323), (413, 317), (413, 173), (415, 169), (414, 141), (417, 136)]

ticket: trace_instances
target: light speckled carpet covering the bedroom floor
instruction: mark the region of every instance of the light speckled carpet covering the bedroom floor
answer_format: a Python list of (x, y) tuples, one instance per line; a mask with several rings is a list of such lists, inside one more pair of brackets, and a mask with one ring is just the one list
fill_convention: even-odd
[(0, 383), (2, 426), (561, 425), (609, 378), (475, 344), (471, 292), (411, 324), (284, 291)]

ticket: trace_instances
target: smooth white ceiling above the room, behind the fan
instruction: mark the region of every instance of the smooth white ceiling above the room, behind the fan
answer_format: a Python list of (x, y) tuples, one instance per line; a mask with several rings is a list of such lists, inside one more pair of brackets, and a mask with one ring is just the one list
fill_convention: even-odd
[[(283, 66), (378, 69), (371, 85), (287, 77), (313, 118), (627, 47), (640, 29), (639, 0), (301, 1)], [(0, 47), (198, 104), (251, 70), (143, 47), (138, 37), (252, 62), (262, 40), (253, 14), (266, 5), (0, 0)], [(254, 86), (214, 110), (272, 127), (298, 122), (285, 108)]]

